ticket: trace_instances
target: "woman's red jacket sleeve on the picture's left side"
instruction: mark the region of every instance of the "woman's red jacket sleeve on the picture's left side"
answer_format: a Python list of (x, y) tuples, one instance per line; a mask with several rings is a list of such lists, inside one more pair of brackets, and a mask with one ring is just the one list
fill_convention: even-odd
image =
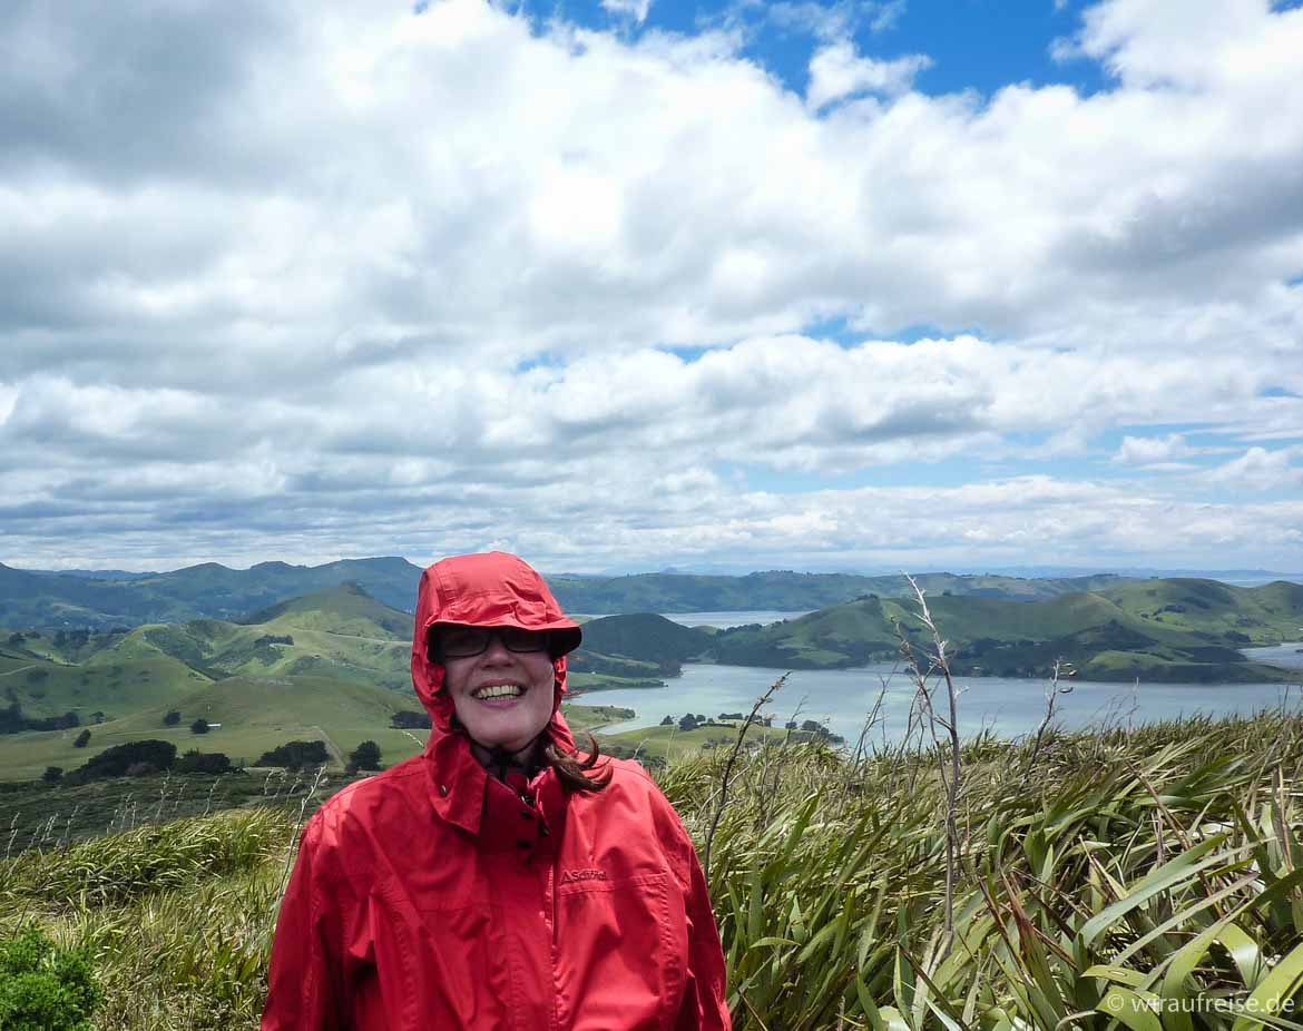
[(322, 813), (304, 829), (271, 945), (267, 1005), (259, 1031), (336, 1031), (348, 1024), (343, 997), (343, 925), (330, 890)]

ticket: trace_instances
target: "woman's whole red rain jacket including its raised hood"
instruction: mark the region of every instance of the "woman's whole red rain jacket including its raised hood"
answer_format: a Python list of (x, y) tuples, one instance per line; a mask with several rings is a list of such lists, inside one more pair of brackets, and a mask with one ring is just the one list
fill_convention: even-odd
[[(705, 881), (665, 795), (620, 760), (595, 794), (550, 768), (489, 777), (426, 658), (437, 622), (575, 627), (513, 555), (425, 571), (412, 679), (430, 740), (304, 829), (262, 1031), (728, 1028)], [(559, 706), (566, 658), (554, 665)], [(549, 733), (573, 747), (559, 709)]]

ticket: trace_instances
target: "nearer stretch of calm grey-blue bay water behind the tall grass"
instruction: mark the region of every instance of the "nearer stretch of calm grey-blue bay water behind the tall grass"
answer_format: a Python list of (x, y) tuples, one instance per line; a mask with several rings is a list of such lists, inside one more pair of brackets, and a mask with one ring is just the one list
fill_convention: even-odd
[[(1303, 646), (1303, 645), (1291, 645)], [(1255, 649), (1257, 650), (1257, 649)], [(1303, 657), (1300, 657), (1303, 658)], [(1303, 666), (1303, 662), (1300, 662)], [(599, 691), (584, 696), (594, 705), (624, 705), (637, 713), (635, 719), (609, 727), (609, 731), (655, 726), (666, 716), (684, 713), (718, 716), (747, 713), (783, 670), (754, 666), (685, 665), (683, 675), (661, 690)], [(770, 703), (774, 723), (795, 714), (797, 721), (818, 719), (850, 743), (860, 735), (865, 713), (886, 679), (883, 726), (874, 730), (877, 740), (898, 740), (904, 735), (913, 688), (893, 666), (866, 666), (855, 670), (797, 670)], [(1045, 713), (1042, 680), (1003, 676), (964, 676), (959, 699), (959, 729), (963, 735), (992, 727), (1003, 738), (1035, 733)], [(1143, 723), (1182, 714), (1253, 713), (1281, 704), (1299, 708), (1299, 688), (1285, 684), (1132, 684), (1072, 682), (1072, 691), (1061, 695), (1055, 706), (1058, 723), (1067, 729), (1105, 721)], [(796, 713), (800, 706), (800, 713)]]

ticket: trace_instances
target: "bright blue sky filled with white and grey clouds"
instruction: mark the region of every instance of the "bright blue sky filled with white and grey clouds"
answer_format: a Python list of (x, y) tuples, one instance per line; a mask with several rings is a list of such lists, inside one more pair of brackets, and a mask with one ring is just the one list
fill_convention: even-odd
[(0, 562), (1298, 571), (1300, 66), (1268, 0), (7, 0)]

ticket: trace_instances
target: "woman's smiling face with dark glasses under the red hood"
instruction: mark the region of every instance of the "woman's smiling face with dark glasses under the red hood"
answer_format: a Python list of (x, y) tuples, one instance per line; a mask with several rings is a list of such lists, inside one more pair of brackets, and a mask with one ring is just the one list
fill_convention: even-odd
[(470, 739), (519, 752), (552, 718), (555, 671), (549, 652), (512, 652), (495, 633), (478, 656), (446, 656), (443, 690)]

